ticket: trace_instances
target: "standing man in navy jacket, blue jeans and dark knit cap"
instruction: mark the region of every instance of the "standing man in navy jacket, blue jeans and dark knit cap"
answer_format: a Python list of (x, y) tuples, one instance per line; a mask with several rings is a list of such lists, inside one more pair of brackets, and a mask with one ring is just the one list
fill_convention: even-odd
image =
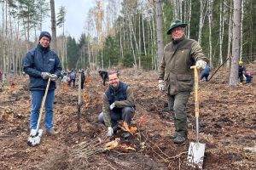
[(44, 105), (44, 127), (46, 134), (53, 136), (57, 132), (53, 124), (53, 104), (55, 99), (55, 81), (61, 76), (61, 63), (57, 54), (49, 49), (51, 36), (48, 31), (42, 31), (37, 48), (32, 48), (24, 58), (23, 70), (29, 75), (29, 88), (32, 95), (30, 116), (30, 135), (36, 135), (38, 116), (44, 97), (48, 79), (51, 79), (49, 91)]

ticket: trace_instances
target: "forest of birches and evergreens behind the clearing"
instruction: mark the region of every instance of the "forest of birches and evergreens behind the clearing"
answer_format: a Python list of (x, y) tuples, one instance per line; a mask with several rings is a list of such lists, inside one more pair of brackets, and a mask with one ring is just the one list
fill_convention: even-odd
[[(107, 3), (106, 3), (107, 2)], [(106, 0), (95, 1), (88, 14), (81, 14), (84, 32), (79, 40), (65, 34), (67, 9), (52, 8), (54, 0), (1, 0), (0, 7), (0, 70), (22, 72), (22, 58), (38, 43), (42, 24), (56, 11), (60, 36), (52, 32), (52, 48), (58, 53), (64, 69), (134, 67), (157, 70), (159, 67), (158, 31), (163, 43), (172, 20), (188, 24), (187, 37), (201, 43), (210, 65), (216, 66), (232, 56), (232, 29), (235, 0)], [(256, 2), (241, 2), (239, 59), (246, 63), (256, 58)], [(157, 6), (160, 7), (157, 12)], [(54, 12), (55, 12), (54, 11)], [(158, 14), (163, 26), (157, 27)], [(228, 62), (229, 63), (229, 62)]]

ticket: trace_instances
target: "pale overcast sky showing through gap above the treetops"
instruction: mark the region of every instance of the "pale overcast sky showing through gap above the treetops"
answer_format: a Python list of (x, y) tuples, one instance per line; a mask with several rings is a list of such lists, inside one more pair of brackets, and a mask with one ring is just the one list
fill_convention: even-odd
[[(86, 15), (91, 7), (95, 6), (95, 0), (55, 0), (55, 14), (59, 12), (59, 8), (64, 6), (67, 10), (65, 22), (65, 34), (79, 39), (84, 32), (84, 23)], [(51, 32), (50, 17), (45, 20), (43, 31)], [(62, 30), (57, 27), (57, 36), (61, 35)]]

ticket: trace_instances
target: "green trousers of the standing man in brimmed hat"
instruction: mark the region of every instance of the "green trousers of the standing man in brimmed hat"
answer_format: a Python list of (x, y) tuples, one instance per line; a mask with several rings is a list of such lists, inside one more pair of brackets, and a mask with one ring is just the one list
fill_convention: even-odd
[(180, 92), (176, 95), (167, 94), (168, 109), (172, 113), (175, 132), (184, 138), (188, 136), (186, 105), (189, 96), (190, 92)]

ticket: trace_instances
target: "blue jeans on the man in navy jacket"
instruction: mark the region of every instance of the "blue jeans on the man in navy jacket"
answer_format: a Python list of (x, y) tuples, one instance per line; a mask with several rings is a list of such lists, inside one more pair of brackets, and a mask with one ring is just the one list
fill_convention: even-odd
[[(32, 108), (30, 114), (30, 128), (36, 129), (38, 125), (38, 117), (40, 112), (41, 103), (44, 97), (44, 91), (36, 90), (31, 91), (32, 95)], [(53, 125), (53, 104), (55, 100), (55, 90), (49, 90), (44, 104), (44, 127), (45, 130), (54, 128)]]

